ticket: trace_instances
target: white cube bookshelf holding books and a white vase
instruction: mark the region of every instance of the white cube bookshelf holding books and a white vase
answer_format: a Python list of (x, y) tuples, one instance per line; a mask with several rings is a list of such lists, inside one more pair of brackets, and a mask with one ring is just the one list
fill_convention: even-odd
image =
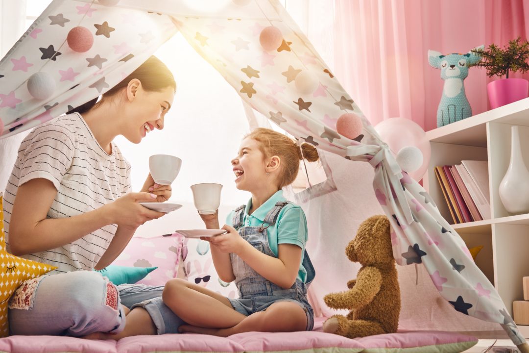
[[(529, 98), (426, 132), (432, 153), (423, 185), (444, 218), (452, 216), (434, 173), (435, 166), (461, 160), (486, 160), (489, 167), (491, 219), (454, 224), (469, 248), (483, 245), (476, 265), (496, 287), (512, 315), (513, 301), (523, 300), (522, 277), (529, 276), (529, 214), (509, 214), (498, 187), (510, 161), (510, 126), (519, 125), (520, 142), (529, 166)], [(529, 197), (529, 195), (528, 195)], [(529, 326), (521, 326), (529, 337)]]

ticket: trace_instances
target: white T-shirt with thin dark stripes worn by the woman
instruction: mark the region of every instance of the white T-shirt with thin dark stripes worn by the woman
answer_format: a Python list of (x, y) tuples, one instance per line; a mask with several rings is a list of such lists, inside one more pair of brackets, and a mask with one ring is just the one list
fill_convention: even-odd
[[(31, 179), (50, 180), (57, 189), (47, 218), (92, 211), (130, 192), (130, 164), (112, 143), (108, 155), (80, 114), (58, 117), (38, 126), (22, 141), (4, 195), (7, 251), (9, 222), (17, 189)], [(50, 272), (92, 270), (110, 245), (116, 224), (108, 224), (60, 248), (22, 256), (58, 266)]]

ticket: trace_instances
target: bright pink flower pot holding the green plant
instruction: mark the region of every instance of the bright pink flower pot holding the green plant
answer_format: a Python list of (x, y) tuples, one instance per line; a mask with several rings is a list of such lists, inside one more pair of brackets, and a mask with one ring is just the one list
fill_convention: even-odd
[(492, 109), (527, 98), (529, 81), (524, 78), (503, 78), (487, 84)]

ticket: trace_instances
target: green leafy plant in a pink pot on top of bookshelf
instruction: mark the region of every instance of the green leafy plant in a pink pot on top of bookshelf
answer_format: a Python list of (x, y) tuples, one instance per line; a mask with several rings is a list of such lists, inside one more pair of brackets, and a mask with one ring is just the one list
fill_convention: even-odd
[(487, 49), (475, 49), (472, 52), (481, 56), (481, 60), (470, 66), (484, 67), (487, 76), (499, 76), (505, 78), (495, 80), (487, 85), (487, 93), (491, 108), (519, 101), (527, 97), (529, 82), (523, 78), (509, 78), (510, 73), (520, 71), (525, 73), (529, 70), (529, 42), (516, 40), (499, 48), (490, 44)]

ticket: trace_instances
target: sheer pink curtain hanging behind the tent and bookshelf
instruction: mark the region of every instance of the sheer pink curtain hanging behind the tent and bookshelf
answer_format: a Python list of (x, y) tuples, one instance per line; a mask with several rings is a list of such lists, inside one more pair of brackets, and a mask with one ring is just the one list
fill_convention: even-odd
[[(428, 49), (443, 54), (529, 37), (528, 0), (335, 0), (334, 74), (373, 125), (406, 117), (436, 128), (443, 87)], [(529, 74), (512, 77), (529, 78)], [(485, 69), (464, 82), (473, 114), (489, 109)]]

